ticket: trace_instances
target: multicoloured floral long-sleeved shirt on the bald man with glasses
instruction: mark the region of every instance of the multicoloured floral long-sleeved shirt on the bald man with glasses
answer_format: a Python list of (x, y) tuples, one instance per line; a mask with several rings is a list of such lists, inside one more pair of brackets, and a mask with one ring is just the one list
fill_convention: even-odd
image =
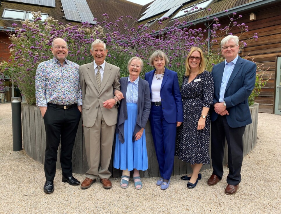
[(35, 76), (36, 105), (82, 105), (82, 90), (79, 83), (79, 65), (69, 60), (61, 63), (54, 57), (41, 62)]

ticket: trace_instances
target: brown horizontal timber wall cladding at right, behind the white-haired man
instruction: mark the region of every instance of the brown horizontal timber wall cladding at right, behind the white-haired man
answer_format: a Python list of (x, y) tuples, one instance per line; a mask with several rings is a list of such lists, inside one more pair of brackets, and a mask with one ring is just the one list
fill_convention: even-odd
[[(245, 59), (252, 60), (267, 68), (263, 75), (269, 78), (268, 83), (261, 89), (260, 95), (255, 100), (259, 103), (259, 112), (274, 113), (274, 98), (275, 98), (275, 62), (276, 57), (281, 56), (281, 4), (271, 5), (271, 7), (259, 10), (248, 10), (245, 13), (237, 13), (242, 15), (241, 19), (237, 20), (238, 24), (245, 23), (248, 26), (249, 32), (244, 33), (242, 36), (241, 30), (234, 27), (230, 32), (234, 35), (240, 36), (240, 41), (245, 41), (253, 36), (254, 33), (258, 34), (258, 40), (252, 40), (248, 43), (247, 47), (242, 48), (242, 53), (239, 56)], [(250, 21), (250, 13), (256, 14), (256, 20)], [(220, 21), (222, 26), (229, 24), (229, 19)], [(218, 46), (215, 46), (218, 47)], [(260, 72), (257, 72), (260, 73)]]

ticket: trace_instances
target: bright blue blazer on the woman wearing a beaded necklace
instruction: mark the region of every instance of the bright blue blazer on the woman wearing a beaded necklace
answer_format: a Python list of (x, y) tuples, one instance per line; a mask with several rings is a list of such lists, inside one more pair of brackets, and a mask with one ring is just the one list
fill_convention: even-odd
[[(145, 80), (149, 83), (151, 97), (151, 83), (155, 69), (145, 74)], [(165, 67), (165, 75), (160, 89), (163, 115), (168, 123), (183, 122), (183, 102), (179, 88), (178, 74)]]

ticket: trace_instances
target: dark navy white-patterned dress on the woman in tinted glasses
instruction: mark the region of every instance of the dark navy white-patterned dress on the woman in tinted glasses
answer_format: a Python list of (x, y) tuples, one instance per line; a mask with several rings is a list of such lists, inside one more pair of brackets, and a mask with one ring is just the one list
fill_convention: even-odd
[(188, 84), (183, 77), (181, 86), (183, 99), (183, 123), (178, 127), (175, 155), (191, 164), (210, 164), (210, 114), (206, 116), (205, 128), (197, 130), (202, 108), (213, 104), (214, 82), (211, 73), (204, 71)]

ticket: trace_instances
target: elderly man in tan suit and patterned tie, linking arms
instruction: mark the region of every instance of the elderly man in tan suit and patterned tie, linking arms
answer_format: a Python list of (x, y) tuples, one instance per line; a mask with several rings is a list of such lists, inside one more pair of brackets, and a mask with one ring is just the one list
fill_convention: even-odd
[(96, 39), (91, 45), (94, 61), (79, 67), (82, 118), (89, 165), (87, 177), (81, 184), (82, 189), (89, 188), (98, 176), (103, 188), (112, 187), (108, 167), (117, 123), (116, 104), (123, 98), (123, 94), (120, 92), (120, 68), (105, 61), (107, 52), (105, 43)]

